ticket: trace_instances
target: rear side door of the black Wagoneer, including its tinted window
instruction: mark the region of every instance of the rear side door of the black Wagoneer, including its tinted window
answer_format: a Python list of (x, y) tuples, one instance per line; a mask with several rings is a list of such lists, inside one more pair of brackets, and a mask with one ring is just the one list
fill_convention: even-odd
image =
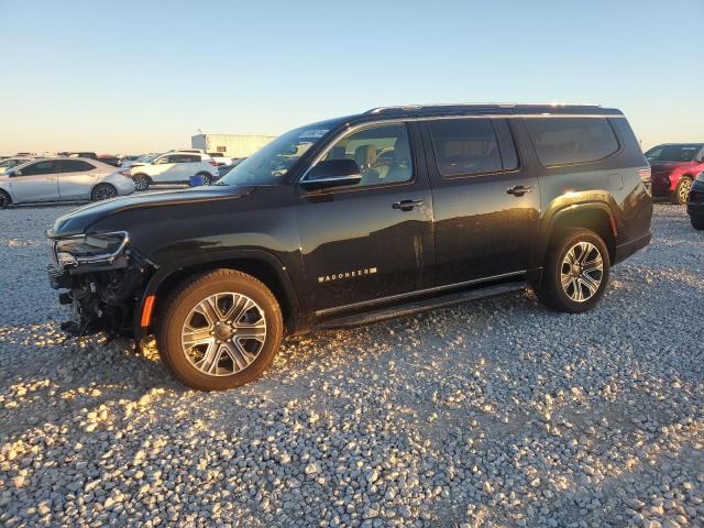
[(433, 194), (433, 286), (503, 278), (530, 267), (540, 193), (507, 119), (422, 122)]

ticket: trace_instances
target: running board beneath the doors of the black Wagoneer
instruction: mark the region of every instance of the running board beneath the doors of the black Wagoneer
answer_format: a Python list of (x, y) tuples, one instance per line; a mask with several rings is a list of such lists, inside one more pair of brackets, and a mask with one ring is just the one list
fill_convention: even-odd
[(318, 327), (327, 329), (353, 328), (372, 322), (384, 321), (395, 317), (410, 316), (421, 311), (435, 310), (436, 308), (444, 308), (447, 306), (466, 302), (469, 300), (484, 299), (495, 297), (497, 295), (510, 294), (519, 292), (528, 287), (525, 280), (496, 284), (493, 286), (480, 287), (459, 292), (455, 294), (443, 295), (442, 297), (432, 297), (429, 299), (416, 300), (403, 305), (380, 308), (374, 311), (356, 314), (354, 316), (338, 317), (322, 321)]

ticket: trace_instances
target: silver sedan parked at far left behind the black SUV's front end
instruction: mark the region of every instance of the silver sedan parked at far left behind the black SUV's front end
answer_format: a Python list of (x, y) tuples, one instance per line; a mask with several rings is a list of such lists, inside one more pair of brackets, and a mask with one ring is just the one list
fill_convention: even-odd
[(33, 160), (0, 175), (0, 209), (35, 201), (107, 200), (132, 193), (131, 177), (82, 157)]

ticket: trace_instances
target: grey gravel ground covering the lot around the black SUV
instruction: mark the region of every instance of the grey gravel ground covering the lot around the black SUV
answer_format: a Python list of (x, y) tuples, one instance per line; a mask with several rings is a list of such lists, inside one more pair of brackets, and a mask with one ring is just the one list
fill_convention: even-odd
[(659, 205), (600, 307), (530, 294), (288, 342), (187, 391), (64, 343), (43, 231), (0, 211), (3, 526), (704, 526), (704, 233)]

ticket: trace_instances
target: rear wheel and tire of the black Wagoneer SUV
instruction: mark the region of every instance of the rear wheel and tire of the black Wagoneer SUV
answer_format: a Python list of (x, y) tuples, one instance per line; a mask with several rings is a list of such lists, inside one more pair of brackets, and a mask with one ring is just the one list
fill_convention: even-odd
[(604, 241), (588, 229), (570, 229), (553, 243), (536, 288), (548, 308), (568, 314), (588, 311), (608, 284), (610, 260)]

